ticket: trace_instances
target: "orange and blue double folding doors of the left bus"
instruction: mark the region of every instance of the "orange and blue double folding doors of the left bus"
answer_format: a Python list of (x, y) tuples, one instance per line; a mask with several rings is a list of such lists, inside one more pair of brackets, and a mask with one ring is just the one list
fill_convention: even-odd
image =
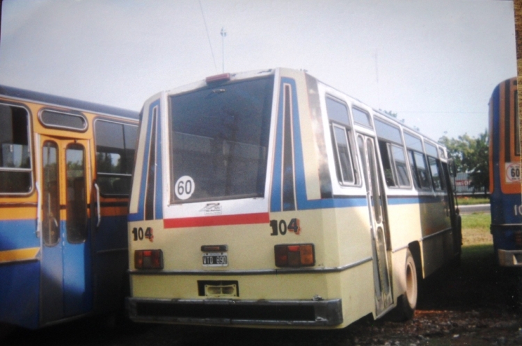
[(88, 140), (40, 136), (41, 322), (92, 309)]

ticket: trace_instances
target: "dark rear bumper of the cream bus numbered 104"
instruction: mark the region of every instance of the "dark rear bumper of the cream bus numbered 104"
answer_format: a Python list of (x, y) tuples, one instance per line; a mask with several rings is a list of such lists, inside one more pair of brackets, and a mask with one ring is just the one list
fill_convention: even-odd
[(240, 300), (127, 298), (134, 322), (228, 326), (333, 327), (342, 324), (341, 299)]

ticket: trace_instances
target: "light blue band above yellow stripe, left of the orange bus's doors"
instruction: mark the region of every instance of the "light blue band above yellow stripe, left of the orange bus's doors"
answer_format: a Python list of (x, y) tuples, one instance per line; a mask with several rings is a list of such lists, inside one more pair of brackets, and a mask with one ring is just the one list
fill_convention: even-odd
[(40, 247), (36, 236), (36, 220), (0, 221), (0, 251)]

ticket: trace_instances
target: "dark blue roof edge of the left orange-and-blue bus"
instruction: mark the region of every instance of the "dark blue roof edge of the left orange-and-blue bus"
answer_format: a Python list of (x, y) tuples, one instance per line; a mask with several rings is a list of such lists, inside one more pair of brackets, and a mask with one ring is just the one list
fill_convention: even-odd
[(52, 94), (45, 94), (43, 92), (35, 92), (31, 90), (13, 88), (6, 85), (0, 85), (0, 96), (1, 95), (25, 101), (40, 102), (42, 104), (65, 106), (68, 108), (74, 108), (76, 110), (84, 110), (93, 113), (118, 115), (120, 117), (128, 117), (136, 120), (139, 117), (139, 112), (136, 112), (134, 110), (106, 106), (102, 104), (95, 104), (93, 102), (81, 101), (78, 99), (70, 99), (68, 97), (61, 97)]

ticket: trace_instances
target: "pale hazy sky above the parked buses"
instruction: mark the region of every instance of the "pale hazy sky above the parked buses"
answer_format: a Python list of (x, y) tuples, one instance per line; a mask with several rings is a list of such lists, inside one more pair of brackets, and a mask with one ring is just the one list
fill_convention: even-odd
[(131, 110), (223, 70), (289, 67), (434, 140), (477, 137), (493, 88), (516, 76), (506, 0), (2, 4), (0, 84)]

